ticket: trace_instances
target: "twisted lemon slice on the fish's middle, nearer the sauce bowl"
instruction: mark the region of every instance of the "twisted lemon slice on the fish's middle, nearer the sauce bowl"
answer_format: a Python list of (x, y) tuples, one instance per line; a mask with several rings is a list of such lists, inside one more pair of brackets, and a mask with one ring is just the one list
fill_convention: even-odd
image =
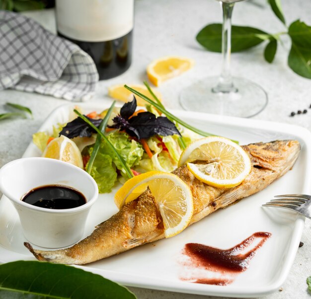
[(117, 191), (115, 203), (120, 209), (150, 188), (163, 219), (165, 238), (183, 231), (193, 214), (193, 198), (188, 185), (170, 173), (152, 171), (129, 179)]

